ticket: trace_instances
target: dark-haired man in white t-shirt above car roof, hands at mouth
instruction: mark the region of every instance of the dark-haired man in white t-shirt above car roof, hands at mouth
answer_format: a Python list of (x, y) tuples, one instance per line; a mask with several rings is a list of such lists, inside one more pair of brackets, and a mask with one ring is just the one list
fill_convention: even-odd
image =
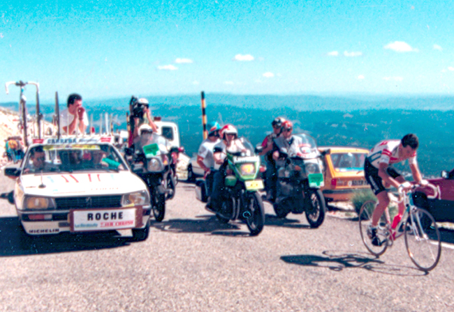
[(88, 126), (88, 116), (82, 107), (82, 96), (73, 93), (68, 96), (68, 108), (60, 112), (60, 129), (75, 134), (76, 127), (83, 133)]

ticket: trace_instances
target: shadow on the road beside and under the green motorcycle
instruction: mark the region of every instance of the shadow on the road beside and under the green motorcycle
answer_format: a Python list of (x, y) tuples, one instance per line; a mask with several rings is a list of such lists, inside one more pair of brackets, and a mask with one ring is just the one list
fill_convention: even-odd
[(150, 225), (160, 231), (173, 233), (207, 233), (210, 235), (224, 236), (249, 236), (249, 231), (240, 230), (240, 221), (230, 221), (222, 223), (212, 214), (204, 214), (196, 217), (197, 219), (170, 219), (167, 221), (156, 222), (150, 220)]

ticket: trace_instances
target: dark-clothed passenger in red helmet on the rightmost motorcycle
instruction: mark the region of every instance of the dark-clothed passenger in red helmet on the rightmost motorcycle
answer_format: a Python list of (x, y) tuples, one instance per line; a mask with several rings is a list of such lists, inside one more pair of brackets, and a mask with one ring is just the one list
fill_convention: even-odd
[(258, 155), (265, 155), (266, 171), (265, 171), (265, 185), (268, 190), (267, 199), (268, 201), (273, 202), (276, 196), (276, 182), (277, 182), (277, 172), (276, 164), (274, 159), (272, 159), (273, 152), (273, 140), (281, 135), (282, 132), (282, 123), (285, 119), (281, 117), (274, 118), (272, 120), (272, 133), (268, 134), (262, 142), (263, 150)]

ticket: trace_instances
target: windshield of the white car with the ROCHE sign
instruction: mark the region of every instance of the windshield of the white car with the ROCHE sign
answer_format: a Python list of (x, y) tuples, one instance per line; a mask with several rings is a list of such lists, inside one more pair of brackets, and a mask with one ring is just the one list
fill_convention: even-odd
[(109, 144), (55, 144), (31, 147), (23, 173), (124, 171), (127, 168)]

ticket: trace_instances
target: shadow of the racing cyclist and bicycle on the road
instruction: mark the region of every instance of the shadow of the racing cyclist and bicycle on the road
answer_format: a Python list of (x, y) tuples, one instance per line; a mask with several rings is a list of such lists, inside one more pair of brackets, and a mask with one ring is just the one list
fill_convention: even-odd
[(427, 272), (420, 271), (416, 267), (405, 265), (388, 265), (379, 258), (369, 253), (348, 253), (346, 251), (323, 251), (323, 256), (317, 255), (291, 255), (281, 256), (281, 260), (295, 265), (310, 267), (326, 267), (333, 271), (344, 269), (364, 269), (381, 274), (397, 276), (423, 276)]

